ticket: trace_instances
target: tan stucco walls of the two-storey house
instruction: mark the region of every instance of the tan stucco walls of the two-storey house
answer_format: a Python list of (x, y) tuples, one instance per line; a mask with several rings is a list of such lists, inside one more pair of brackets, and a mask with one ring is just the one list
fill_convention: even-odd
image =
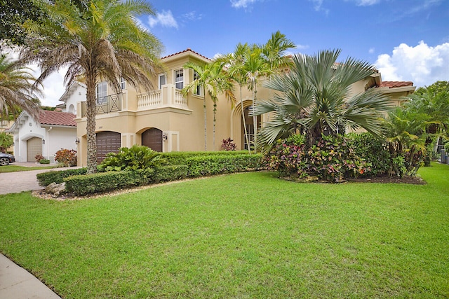
[[(166, 83), (174, 84), (174, 74), (176, 69), (182, 69), (187, 61), (196, 63), (206, 63), (203, 57), (192, 55), (192, 53), (181, 53), (172, 55), (163, 60), (166, 74)], [(160, 73), (162, 74), (162, 73)], [(380, 78), (380, 75), (379, 75)], [(351, 87), (349, 96), (364, 92), (366, 86), (373, 85), (373, 82), (380, 80), (376, 76), (359, 81)], [(184, 69), (184, 85), (193, 79), (193, 71)], [(154, 76), (154, 88), (158, 88), (159, 74)], [(138, 95), (145, 90), (135, 90), (132, 86), (126, 86), (123, 91), (122, 111), (105, 113), (97, 116), (96, 131), (113, 131), (121, 133), (121, 146), (130, 147), (133, 144), (142, 143), (142, 132), (155, 127), (164, 132), (168, 139), (163, 141), (163, 151), (203, 151), (204, 150), (204, 117), (203, 117), (203, 97), (187, 95), (187, 107), (185, 109), (165, 106), (163, 108), (138, 110)], [(392, 92), (385, 90), (392, 96), (394, 104), (400, 104), (403, 95), (409, 91)], [(273, 90), (264, 87), (264, 80), (260, 80), (257, 86), (257, 101), (267, 100), (273, 97)], [(114, 94), (112, 88), (108, 89), (108, 95)], [(236, 102), (234, 108), (232, 103), (220, 95), (217, 101), (217, 114), (215, 125), (215, 146), (213, 145), (213, 102), (206, 95), (206, 119), (207, 119), (207, 150), (220, 151), (222, 139), (231, 137), (237, 145), (237, 149), (243, 148), (243, 127), (241, 120), (241, 99), (244, 108), (252, 105), (253, 92), (247, 88), (242, 88), (240, 95), (239, 85), (234, 88)], [(261, 123), (269, 120), (265, 115), (261, 118)], [(86, 118), (78, 118), (77, 137), (80, 139), (78, 145), (79, 165), (86, 165)]]

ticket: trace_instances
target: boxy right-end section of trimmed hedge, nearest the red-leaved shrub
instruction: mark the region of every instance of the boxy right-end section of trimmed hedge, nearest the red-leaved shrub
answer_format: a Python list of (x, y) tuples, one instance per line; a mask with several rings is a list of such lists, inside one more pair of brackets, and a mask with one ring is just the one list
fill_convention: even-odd
[[(229, 152), (227, 152), (229, 153)], [(214, 174), (229, 174), (248, 169), (259, 169), (262, 165), (261, 154), (239, 155), (206, 155), (186, 159), (189, 167), (188, 176), (210, 176)]]

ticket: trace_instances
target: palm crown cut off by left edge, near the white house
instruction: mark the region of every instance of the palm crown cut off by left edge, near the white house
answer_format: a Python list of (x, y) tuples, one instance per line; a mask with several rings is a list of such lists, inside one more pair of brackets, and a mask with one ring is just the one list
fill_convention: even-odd
[(9, 114), (17, 114), (20, 109), (36, 118), (39, 113), (41, 85), (34, 86), (36, 79), (31, 70), (20, 62), (0, 55), (0, 118), (8, 119)]

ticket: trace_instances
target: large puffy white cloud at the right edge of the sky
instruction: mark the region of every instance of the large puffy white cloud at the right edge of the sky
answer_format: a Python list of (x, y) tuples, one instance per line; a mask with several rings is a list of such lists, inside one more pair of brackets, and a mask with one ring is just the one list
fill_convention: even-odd
[(431, 47), (424, 41), (417, 46), (401, 43), (391, 55), (377, 56), (375, 66), (384, 81), (413, 81), (416, 86), (449, 79), (449, 43)]

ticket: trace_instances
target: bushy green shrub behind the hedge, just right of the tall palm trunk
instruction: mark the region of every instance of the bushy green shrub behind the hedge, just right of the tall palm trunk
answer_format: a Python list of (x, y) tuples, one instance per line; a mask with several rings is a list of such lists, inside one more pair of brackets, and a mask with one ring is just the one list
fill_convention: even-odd
[(146, 169), (165, 164), (161, 153), (147, 146), (133, 145), (130, 148), (120, 148), (119, 153), (108, 153), (105, 160), (98, 165), (100, 171)]

